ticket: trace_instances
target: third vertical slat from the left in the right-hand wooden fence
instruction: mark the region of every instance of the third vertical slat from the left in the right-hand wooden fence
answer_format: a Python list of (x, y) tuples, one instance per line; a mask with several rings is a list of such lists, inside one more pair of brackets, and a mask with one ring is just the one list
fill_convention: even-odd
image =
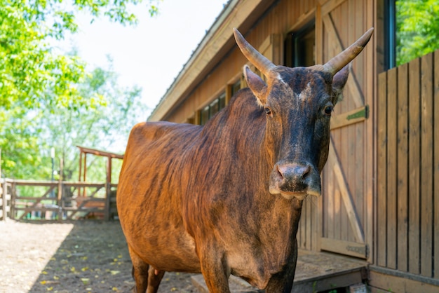
[(408, 232), (408, 64), (398, 67), (398, 270), (407, 271)]

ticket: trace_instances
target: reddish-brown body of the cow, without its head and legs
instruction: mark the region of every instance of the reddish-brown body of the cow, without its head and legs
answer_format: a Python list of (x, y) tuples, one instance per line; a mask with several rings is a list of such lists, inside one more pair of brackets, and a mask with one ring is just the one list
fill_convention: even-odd
[[(133, 129), (122, 173), (135, 179), (119, 184), (119, 212), (130, 249), (156, 270), (201, 273), (196, 242), (218, 245), (215, 258), (258, 287), (290, 261), (302, 203), (264, 189), (273, 165), (255, 160), (265, 116), (254, 99), (243, 90), (204, 128), (141, 123)], [(238, 133), (236, 140), (230, 133)]]

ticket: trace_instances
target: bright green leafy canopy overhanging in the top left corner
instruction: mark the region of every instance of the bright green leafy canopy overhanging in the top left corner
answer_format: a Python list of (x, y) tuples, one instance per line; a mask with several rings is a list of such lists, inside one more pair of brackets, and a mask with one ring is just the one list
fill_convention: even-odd
[[(157, 13), (149, 0), (149, 12)], [(56, 55), (50, 39), (63, 39), (76, 32), (75, 12), (88, 10), (94, 17), (104, 15), (123, 25), (135, 24), (132, 5), (142, 0), (0, 0), (0, 106), (10, 109), (39, 107), (42, 101), (60, 107), (81, 104), (77, 89), (85, 74), (84, 64), (75, 55)], [(48, 90), (52, 95), (47, 97)], [(0, 121), (1, 122), (1, 121)]]

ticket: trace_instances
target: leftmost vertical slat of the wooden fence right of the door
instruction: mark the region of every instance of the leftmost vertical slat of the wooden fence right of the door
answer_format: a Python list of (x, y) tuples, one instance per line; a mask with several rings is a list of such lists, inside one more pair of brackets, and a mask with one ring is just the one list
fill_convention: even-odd
[(377, 101), (377, 240), (375, 264), (386, 266), (387, 72), (378, 76)]

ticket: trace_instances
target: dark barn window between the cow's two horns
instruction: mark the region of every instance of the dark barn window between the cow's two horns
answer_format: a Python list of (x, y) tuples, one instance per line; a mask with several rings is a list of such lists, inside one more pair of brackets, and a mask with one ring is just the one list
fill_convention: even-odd
[(288, 67), (312, 66), (316, 64), (316, 27), (309, 23), (285, 39), (285, 65)]

